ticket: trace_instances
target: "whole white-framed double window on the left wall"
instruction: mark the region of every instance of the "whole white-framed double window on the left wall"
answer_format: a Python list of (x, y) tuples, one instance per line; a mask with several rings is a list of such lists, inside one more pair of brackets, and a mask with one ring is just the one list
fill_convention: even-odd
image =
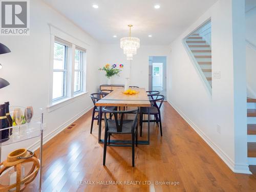
[(51, 102), (72, 98), (85, 91), (86, 51), (57, 37), (53, 46)]

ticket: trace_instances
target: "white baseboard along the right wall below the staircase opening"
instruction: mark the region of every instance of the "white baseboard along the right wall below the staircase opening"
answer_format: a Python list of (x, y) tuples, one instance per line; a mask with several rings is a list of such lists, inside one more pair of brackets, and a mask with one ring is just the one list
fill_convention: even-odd
[(214, 142), (211, 141), (209, 137), (207, 137), (202, 130), (194, 124), (181, 110), (179, 110), (170, 100), (168, 103), (173, 106), (173, 108), (180, 114), (180, 116), (197, 132), (197, 134), (215, 151), (215, 153), (227, 164), (227, 166), (234, 173), (241, 174), (251, 174), (248, 164), (234, 164), (233, 160), (221, 150)]

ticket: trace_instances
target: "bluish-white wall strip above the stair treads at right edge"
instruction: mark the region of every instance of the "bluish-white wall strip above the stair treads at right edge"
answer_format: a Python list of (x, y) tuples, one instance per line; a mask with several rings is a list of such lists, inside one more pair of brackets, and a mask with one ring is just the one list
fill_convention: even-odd
[(256, 98), (256, 7), (245, 14), (247, 95)]

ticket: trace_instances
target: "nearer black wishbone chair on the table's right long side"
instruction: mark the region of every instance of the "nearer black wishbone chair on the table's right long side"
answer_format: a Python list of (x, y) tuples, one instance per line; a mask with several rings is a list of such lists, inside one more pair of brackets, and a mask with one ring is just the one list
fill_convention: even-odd
[[(150, 97), (151, 107), (149, 107), (149, 108), (146, 108), (146, 107), (140, 108), (140, 136), (142, 136), (143, 122), (148, 122), (148, 120), (143, 120), (143, 115), (144, 114), (147, 115), (148, 110), (150, 112), (150, 115), (155, 116), (155, 119), (151, 119), (150, 122), (156, 122), (157, 124), (160, 123), (160, 133), (161, 133), (161, 136), (163, 136), (160, 108), (163, 104), (164, 96), (163, 95), (155, 95), (155, 94), (147, 95), (147, 96)], [(159, 103), (159, 105), (158, 105), (158, 103)]]

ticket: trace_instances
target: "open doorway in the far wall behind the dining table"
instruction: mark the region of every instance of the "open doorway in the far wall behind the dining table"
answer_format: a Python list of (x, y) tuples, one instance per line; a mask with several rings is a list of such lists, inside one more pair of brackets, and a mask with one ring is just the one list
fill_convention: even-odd
[(148, 71), (148, 90), (159, 91), (166, 99), (166, 56), (150, 56)]

